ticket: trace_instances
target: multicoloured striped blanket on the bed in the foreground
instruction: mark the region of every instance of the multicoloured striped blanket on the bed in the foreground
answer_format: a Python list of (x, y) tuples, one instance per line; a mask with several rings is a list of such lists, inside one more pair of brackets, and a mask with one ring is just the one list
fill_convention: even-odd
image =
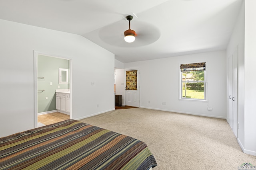
[(73, 119), (0, 138), (0, 170), (148, 170), (156, 165), (144, 142)]

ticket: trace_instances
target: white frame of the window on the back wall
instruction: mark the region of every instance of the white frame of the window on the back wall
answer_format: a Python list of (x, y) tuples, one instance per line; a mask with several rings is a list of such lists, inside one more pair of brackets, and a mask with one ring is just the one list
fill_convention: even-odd
[[(186, 101), (201, 101), (201, 102), (207, 102), (207, 76), (206, 76), (206, 71), (207, 71), (207, 62), (195, 62), (195, 63), (205, 63), (205, 70), (204, 70), (204, 81), (203, 80), (195, 80), (195, 81), (183, 81), (182, 80), (182, 71), (180, 70), (180, 65), (179, 64), (179, 74), (180, 74), (180, 80), (179, 80), (179, 86), (180, 86), (180, 90), (179, 90), (179, 100), (186, 100)], [(190, 64), (190, 63), (186, 63), (186, 64)], [(185, 98), (183, 97), (183, 83), (198, 83), (198, 82), (203, 82), (204, 83), (204, 99), (198, 99), (198, 98)]]

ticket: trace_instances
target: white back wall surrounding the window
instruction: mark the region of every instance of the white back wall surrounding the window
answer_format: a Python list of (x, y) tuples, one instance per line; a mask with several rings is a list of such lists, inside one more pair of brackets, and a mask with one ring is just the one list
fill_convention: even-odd
[[(205, 61), (208, 102), (179, 100), (180, 64)], [(124, 68), (140, 68), (140, 107), (226, 119), (226, 51), (124, 63)]]

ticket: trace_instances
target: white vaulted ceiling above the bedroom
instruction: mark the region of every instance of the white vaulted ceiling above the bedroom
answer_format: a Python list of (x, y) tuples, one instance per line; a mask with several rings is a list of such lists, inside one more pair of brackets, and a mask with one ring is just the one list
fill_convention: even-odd
[[(123, 63), (224, 50), (242, 0), (0, 0), (0, 19), (82, 35)], [(124, 41), (131, 29), (138, 36)]]

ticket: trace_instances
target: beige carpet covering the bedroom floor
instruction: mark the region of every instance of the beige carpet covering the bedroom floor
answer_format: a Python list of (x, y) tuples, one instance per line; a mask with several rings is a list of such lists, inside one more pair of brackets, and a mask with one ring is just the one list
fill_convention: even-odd
[(80, 120), (145, 142), (153, 170), (238, 170), (256, 166), (244, 154), (226, 120), (151, 109), (119, 109)]

